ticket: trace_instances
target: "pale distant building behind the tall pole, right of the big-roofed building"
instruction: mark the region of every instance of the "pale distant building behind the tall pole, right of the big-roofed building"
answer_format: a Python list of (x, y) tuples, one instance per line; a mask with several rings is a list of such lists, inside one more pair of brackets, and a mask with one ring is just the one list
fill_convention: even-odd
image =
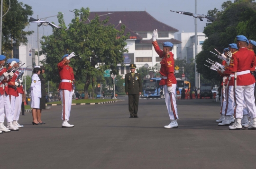
[[(199, 53), (202, 51), (202, 44), (207, 38), (203, 33), (197, 33), (197, 36), (197, 53)], [(182, 43), (177, 44), (177, 58), (186, 59), (190, 63), (191, 59), (195, 59), (195, 33), (180, 33), (178, 40)]]

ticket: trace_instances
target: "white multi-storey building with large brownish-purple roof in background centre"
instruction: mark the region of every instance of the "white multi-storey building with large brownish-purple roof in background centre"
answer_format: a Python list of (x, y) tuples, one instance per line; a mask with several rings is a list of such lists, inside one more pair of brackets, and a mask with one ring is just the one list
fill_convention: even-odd
[(130, 37), (126, 41), (129, 52), (124, 53), (125, 67), (122, 67), (121, 64), (118, 65), (120, 75), (124, 77), (126, 73), (130, 72), (129, 65), (131, 63), (136, 64), (137, 68), (143, 67), (146, 63), (149, 67), (154, 67), (156, 63), (160, 63), (161, 59), (152, 45), (154, 29), (158, 30), (156, 40), (161, 49), (163, 49), (163, 42), (168, 41), (174, 44), (172, 52), (174, 59), (176, 59), (177, 44), (181, 42), (174, 39), (174, 33), (179, 30), (156, 20), (146, 11), (91, 12), (88, 18), (91, 20), (97, 14), (103, 20), (106, 19), (108, 13), (113, 13), (107, 15), (109, 17), (108, 25), (113, 24), (116, 29), (125, 25), (125, 34), (130, 33)]

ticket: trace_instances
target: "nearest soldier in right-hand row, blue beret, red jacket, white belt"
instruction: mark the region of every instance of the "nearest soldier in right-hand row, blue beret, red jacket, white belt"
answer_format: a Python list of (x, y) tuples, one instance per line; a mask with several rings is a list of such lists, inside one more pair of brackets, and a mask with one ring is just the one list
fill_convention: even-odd
[[(243, 35), (237, 36), (238, 52), (232, 55), (229, 64), (229, 71), (237, 74), (237, 80), (234, 81), (235, 95), (235, 123), (229, 126), (229, 130), (242, 130), (241, 118), (243, 117), (243, 102), (245, 101), (247, 109), (250, 112), (253, 124), (248, 129), (256, 129), (256, 106), (254, 97), (255, 78), (250, 69), (256, 66), (255, 54), (247, 49), (249, 41)], [(236, 86), (237, 85), (237, 86)]]

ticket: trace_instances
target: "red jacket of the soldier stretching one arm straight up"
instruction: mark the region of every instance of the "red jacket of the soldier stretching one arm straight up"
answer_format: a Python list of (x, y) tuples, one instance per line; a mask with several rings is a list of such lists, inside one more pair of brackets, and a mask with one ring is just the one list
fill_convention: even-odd
[(167, 79), (161, 79), (160, 85), (167, 85), (172, 87), (172, 84), (177, 84), (176, 77), (174, 76), (174, 54), (170, 51), (166, 54), (159, 48), (156, 41), (152, 42), (156, 53), (162, 58), (160, 64), (160, 74), (166, 76)]

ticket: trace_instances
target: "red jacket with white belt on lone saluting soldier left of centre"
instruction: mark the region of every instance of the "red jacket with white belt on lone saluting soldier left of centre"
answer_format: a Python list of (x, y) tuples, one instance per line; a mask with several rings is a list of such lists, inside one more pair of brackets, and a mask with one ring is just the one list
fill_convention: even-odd
[(73, 90), (73, 83), (74, 83), (74, 73), (73, 68), (66, 65), (66, 59), (63, 59), (61, 62), (58, 63), (57, 67), (59, 70), (59, 75), (61, 80), (71, 80), (71, 82), (61, 82), (59, 84), (59, 89), (69, 90), (70, 92)]

